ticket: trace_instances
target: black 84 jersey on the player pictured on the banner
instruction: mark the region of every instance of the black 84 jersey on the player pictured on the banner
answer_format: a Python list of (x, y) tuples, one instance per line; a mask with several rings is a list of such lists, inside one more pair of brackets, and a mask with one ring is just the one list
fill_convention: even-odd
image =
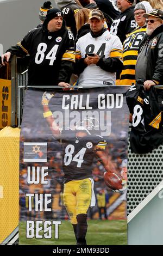
[(102, 136), (86, 135), (77, 137), (77, 131), (61, 132), (62, 167), (65, 182), (92, 177), (92, 162), (96, 151), (105, 150), (106, 141)]

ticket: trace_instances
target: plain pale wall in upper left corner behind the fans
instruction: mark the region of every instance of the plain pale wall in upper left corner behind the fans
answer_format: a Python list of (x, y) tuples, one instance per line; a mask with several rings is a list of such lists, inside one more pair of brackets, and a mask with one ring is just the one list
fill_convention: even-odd
[[(0, 56), (39, 23), (44, 0), (0, 0)], [(52, 5), (54, 1), (51, 1)]]

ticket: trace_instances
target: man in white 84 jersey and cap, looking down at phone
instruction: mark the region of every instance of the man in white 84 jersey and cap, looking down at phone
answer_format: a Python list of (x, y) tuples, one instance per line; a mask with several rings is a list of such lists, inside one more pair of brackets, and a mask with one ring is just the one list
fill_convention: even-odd
[(74, 73), (79, 86), (115, 86), (116, 72), (122, 69), (122, 43), (118, 36), (104, 28), (104, 15), (92, 10), (90, 33), (79, 38), (76, 47)]

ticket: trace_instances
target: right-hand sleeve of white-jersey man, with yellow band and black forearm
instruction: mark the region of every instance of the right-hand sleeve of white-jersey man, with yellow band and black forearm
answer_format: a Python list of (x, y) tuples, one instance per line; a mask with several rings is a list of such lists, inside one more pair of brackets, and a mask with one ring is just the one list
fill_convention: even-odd
[(123, 68), (122, 43), (118, 36), (112, 44), (109, 58), (100, 58), (97, 66), (108, 72), (117, 72)]

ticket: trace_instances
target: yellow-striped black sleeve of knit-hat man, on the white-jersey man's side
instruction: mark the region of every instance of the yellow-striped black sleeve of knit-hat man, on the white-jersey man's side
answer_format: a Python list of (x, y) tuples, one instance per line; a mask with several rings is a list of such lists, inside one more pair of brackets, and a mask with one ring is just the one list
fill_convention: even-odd
[[(71, 33), (71, 35), (70, 35)], [(71, 39), (70, 39), (71, 38)], [(62, 55), (60, 71), (58, 77), (59, 82), (70, 82), (70, 77), (73, 73), (74, 63), (76, 59), (76, 45), (71, 31), (68, 31), (68, 47)]]

